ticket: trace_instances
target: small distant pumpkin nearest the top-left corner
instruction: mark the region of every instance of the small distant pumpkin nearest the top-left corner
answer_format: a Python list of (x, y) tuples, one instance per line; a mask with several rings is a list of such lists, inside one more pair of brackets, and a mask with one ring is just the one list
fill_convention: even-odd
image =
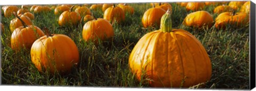
[(10, 18), (11, 15), (13, 15), (13, 12), (17, 12), (19, 8), (17, 6), (6, 6), (3, 8), (4, 11), (4, 17)]

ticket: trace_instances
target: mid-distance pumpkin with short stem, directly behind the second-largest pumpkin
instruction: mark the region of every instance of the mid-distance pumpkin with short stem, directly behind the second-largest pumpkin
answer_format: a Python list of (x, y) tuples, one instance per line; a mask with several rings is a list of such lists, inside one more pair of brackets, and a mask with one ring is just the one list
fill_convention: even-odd
[(74, 6), (72, 6), (69, 11), (61, 13), (59, 17), (60, 26), (77, 26), (81, 21), (81, 16), (77, 12), (71, 11), (73, 7)]

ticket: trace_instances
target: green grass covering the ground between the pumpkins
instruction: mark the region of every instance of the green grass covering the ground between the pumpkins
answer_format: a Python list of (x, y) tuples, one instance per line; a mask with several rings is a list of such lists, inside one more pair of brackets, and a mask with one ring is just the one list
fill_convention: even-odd
[[(47, 27), (52, 34), (64, 34), (74, 40), (79, 51), (79, 64), (65, 76), (39, 72), (30, 59), (30, 51), (23, 49), (15, 53), (10, 47), (10, 21), (4, 18), (5, 32), (1, 37), (1, 80), (2, 85), (43, 85), (43, 86), (92, 86), (92, 87), (149, 87), (147, 80), (138, 81), (128, 66), (129, 55), (138, 40), (153, 29), (142, 28), (143, 13), (151, 8), (146, 3), (131, 3), (134, 15), (126, 14), (124, 24), (114, 24), (114, 40), (100, 45), (86, 43), (82, 38), (83, 23), (76, 28), (60, 27), (58, 16), (50, 13), (35, 14), (33, 23), (39, 28)], [(225, 30), (196, 29), (182, 25), (190, 12), (184, 7), (171, 3), (173, 28), (191, 32), (205, 47), (212, 63), (212, 77), (204, 88), (249, 89), (249, 26), (228, 27)], [(19, 6), (20, 7), (20, 6)], [(214, 6), (206, 6), (213, 14)], [(1, 12), (3, 12), (1, 10)], [(101, 11), (92, 11), (96, 18), (102, 18)], [(3, 14), (3, 13), (2, 13)], [(191, 87), (191, 88), (196, 88)]]

